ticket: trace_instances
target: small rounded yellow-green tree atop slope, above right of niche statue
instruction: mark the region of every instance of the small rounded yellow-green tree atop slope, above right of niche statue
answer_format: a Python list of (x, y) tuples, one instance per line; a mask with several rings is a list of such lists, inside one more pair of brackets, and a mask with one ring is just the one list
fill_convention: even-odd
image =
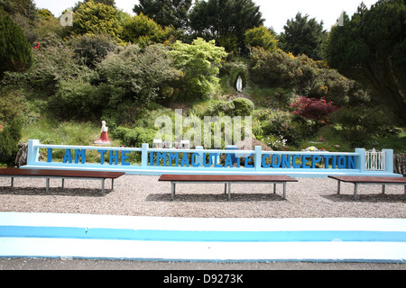
[(278, 40), (263, 26), (245, 31), (245, 44), (251, 47), (262, 47), (268, 51), (278, 48)]

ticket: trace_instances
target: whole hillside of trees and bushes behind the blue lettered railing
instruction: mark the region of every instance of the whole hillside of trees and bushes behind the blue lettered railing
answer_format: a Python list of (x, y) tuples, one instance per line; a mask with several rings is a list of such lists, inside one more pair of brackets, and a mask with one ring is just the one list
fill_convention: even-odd
[[(274, 150), (315, 146), (404, 152), (404, 1), (379, 1), (370, 9), (360, 5), (351, 19), (346, 16), (345, 26), (330, 32), (309, 15), (297, 14), (281, 35), (263, 27), (252, 1), (245, 1), (249, 4), (241, 13), (253, 15), (253, 22), (240, 31), (209, 30), (198, 21), (215, 1), (195, 6), (165, 2), (181, 3), (183, 10), (172, 5), (168, 20), (158, 13), (159, 1), (140, 1), (134, 8), (139, 14), (132, 17), (114, 1), (85, 1), (73, 7), (73, 25), (62, 27), (32, 1), (0, 1), (0, 43), (9, 48), (0, 50), (7, 60), (0, 70), (0, 162), (13, 164), (18, 142), (28, 139), (92, 145), (102, 120), (114, 146), (152, 144), (162, 128), (155, 120), (166, 116), (174, 123), (176, 109), (184, 118), (202, 122), (208, 116), (241, 116), (243, 126), (245, 116), (251, 116), (251, 137)], [(17, 4), (26, 9), (16, 10)], [(185, 11), (188, 23), (180, 21)], [(397, 26), (382, 31), (386, 46), (369, 34), (364, 40), (367, 33), (358, 31), (359, 40), (343, 48), (355, 23), (367, 26), (372, 15), (388, 11)], [(230, 15), (230, 21), (241, 21), (241, 15)], [(392, 24), (379, 23), (382, 28)], [(11, 34), (20, 36), (13, 42)], [(303, 43), (302, 49), (291, 45), (292, 38)], [(27, 45), (31, 48), (18, 49)], [(376, 53), (380, 61), (374, 59)], [(365, 61), (374, 67), (363, 68)], [(379, 67), (387, 73), (381, 75)], [(243, 80), (240, 92), (235, 88), (238, 76)], [(225, 126), (220, 127), (223, 133)], [(183, 135), (190, 129), (184, 127)]]

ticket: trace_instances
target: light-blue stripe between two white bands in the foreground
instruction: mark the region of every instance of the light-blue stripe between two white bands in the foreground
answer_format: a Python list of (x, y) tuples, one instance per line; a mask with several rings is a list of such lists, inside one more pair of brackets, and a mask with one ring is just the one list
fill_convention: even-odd
[(0, 226), (0, 238), (80, 238), (189, 242), (406, 242), (402, 231), (182, 231)]

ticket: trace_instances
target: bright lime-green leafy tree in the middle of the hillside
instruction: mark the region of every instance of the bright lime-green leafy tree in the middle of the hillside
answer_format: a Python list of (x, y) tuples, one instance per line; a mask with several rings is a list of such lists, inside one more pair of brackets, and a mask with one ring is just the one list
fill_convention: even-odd
[(186, 98), (207, 98), (214, 93), (221, 60), (227, 56), (223, 47), (216, 46), (215, 40), (198, 38), (191, 45), (177, 40), (169, 54), (174, 66), (183, 73)]

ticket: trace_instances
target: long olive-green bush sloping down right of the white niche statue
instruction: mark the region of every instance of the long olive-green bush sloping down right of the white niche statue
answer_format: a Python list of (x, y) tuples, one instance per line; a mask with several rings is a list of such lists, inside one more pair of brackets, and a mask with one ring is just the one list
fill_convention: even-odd
[(368, 100), (368, 94), (355, 81), (330, 69), (324, 61), (306, 55), (294, 57), (281, 49), (268, 52), (252, 49), (251, 80), (263, 87), (294, 88), (297, 94), (322, 98), (337, 105)]

